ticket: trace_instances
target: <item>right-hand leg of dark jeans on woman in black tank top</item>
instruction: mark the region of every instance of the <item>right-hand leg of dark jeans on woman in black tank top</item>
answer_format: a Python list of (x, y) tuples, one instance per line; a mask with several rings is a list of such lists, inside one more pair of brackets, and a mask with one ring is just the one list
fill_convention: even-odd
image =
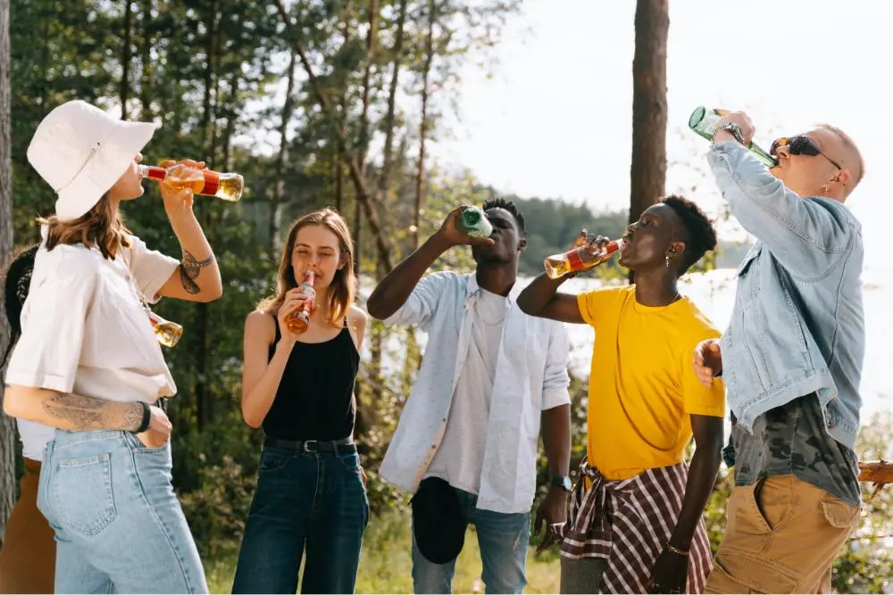
[(354, 454), (315, 455), (321, 489), (307, 536), (307, 563), (302, 593), (353, 593), (369, 519), (360, 461)]

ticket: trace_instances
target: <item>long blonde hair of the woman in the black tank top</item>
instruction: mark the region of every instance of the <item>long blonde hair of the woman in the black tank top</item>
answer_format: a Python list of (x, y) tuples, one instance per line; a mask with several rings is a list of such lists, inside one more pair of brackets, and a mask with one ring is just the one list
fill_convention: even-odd
[(334, 209), (321, 209), (307, 213), (303, 217), (295, 219), (288, 230), (288, 239), (285, 250), (280, 259), (279, 275), (277, 276), (276, 295), (268, 297), (257, 304), (257, 310), (276, 315), (285, 294), (297, 287), (295, 269), (291, 266), (291, 255), (295, 251), (297, 232), (303, 227), (320, 226), (327, 228), (338, 237), (340, 258), (345, 259), (345, 265), (335, 271), (335, 278), (329, 286), (329, 322), (337, 325), (347, 315), (347, 310), (354, 303), (356, 297), (356, 275), (354, 272), (354, 242), (350, 237), (350, 230), (344, 218)]

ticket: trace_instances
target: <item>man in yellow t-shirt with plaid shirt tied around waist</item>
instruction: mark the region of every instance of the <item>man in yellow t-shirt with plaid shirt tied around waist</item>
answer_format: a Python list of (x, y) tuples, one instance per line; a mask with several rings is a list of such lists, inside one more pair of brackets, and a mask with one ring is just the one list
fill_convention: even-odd
[[(582, 236), (582, 235), (581, 235)], [(562, 592), (701, 592), (711, 569), (702, 514), (719, 469), (722, 383), (692, 367), (697, 343), (719, 336), (677, 281), (716, 245), (709, 219), (680, 196), (642, 213), (620, 263), (635, 285), (573, 296), (541, 275), (518, 298), (530, 315), (588, 324), (596, 342), (587, 459), (562, 542)], [(597, 250), (606, 238), (586, 238)], [(694, 435), (691, 465), (684, 461)]]

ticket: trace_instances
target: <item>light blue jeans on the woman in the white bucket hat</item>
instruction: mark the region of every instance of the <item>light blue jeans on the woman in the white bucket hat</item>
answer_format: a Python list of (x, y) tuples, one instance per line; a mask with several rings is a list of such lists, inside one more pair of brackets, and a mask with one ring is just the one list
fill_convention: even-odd
[(171, 487), (171, 446), (129, 432), (57, 430), (38, 508), (57, 541), (57, 593), (206, 593), (202, 561)]

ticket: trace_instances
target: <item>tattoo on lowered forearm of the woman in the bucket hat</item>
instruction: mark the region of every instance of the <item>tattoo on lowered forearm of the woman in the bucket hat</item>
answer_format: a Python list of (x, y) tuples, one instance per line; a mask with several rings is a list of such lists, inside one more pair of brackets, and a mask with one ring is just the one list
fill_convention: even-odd
[(132, 432), (143, 422), (139, 403), (105, 401), (79, 394), (60, 394), (44, 401), (51, 417), (64, 419), (75, 430), (126, 430)]

